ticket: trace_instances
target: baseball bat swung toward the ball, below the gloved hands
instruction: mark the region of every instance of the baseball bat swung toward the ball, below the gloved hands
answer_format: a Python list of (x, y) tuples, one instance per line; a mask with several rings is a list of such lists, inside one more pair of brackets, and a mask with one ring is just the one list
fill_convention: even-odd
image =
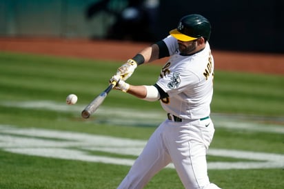
[(105, 90), (103, 90), (103, 92), (101, 92), (101, 94), (99, 94), (98, 97), (94, 98), (82, 111), (81, 116), (85, 119), (88, 119), (90, 115), (92, 115), (92, 113), (94, 113), (99, 108), (99, 106), (101, 106), (101, 103), (103, 103), (105, 97), (108, 96), (108, 93), (110, 92), (110, 90), (112, 90), (112, 88), (114, 88), (115, 85), (116, 82), (113, 81), (110, 86), (108, 86), (108, 88), (106, 88)]

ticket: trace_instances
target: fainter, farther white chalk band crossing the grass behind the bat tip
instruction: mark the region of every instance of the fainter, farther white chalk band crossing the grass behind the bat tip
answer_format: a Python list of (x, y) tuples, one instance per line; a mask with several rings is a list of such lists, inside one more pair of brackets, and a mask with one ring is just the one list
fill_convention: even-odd
[[(81, 117), (81, 111), (85, 106), (67, 105), (54, 101), (0, 101), (0, 106), (18, 107), (29, 109), (45, 109), (57, 112), (73, 112)], [(131, 116), (130, 116), (131, 115)], [(166, 113), (161, 111), (142, 111), (130, 108), (113, 108), (101, 106), (95, 112), (92, 120), (97, 123), (110, 123), (113, 125), (128, 126), (159, 126), (166, 119)], [(111, 119), (110, 119), (111, 117)], [(284, 117), (248, 117), (245, 115), (211, 115), (215, 128), (227, 128), (231, 130), (251, 130), (254, 132), (271, 132), (284, 134)], [(273, 119), (275, 121), (273, 121)], [(267, 120), (267, 121), (266, 121)], [(278, 121), (278, 123), (276, 123)], [(267, 123), (269, 122), (269, 123)], [(275, 123), (274, 123), (275, 122)]]

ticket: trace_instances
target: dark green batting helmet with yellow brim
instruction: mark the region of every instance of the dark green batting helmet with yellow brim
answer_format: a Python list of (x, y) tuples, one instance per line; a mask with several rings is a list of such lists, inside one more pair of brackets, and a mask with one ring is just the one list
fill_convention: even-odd
[(180, 41), (192, 41), (199, 37), (209, 40), (210, 22), (200, 14), (190, 14), (182, 17), (176, 29), (171, 30), (172, 37)]

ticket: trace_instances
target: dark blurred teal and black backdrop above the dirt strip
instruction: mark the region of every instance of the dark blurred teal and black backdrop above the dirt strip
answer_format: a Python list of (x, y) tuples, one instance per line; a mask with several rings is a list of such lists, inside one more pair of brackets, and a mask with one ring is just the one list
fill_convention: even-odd
[(199, 13), (214, 49), (283, 53), (283, 10), (283, 0), (0, 0), (0, 37), (153, 42)]

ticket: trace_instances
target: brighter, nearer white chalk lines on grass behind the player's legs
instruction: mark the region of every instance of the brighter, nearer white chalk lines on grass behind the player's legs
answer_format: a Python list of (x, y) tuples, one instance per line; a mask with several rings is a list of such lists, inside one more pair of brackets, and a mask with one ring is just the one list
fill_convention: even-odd
[[(86, 150), (138, 156), (146, 143), (143, 140), (39, 128), (17, 128), (1, 124), (0, 136), (0, 149), (7, 152), (123, 166), (132, 166), (134, 159), (91, 155)], [(208, 169), (283, 168), (284, 155), (274, 153), (212, 148), (208, 151), (208, 155), (242, 159), (235, 162), (208, 162)], [(167, 168), (174, 166), (171, 163)]]

